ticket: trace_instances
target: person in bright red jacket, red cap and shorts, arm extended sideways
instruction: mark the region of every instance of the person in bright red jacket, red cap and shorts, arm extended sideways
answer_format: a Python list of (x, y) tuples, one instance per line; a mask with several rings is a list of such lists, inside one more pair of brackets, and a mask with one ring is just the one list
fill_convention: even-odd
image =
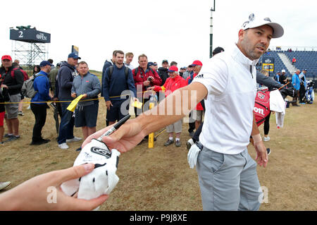
[[(148, 87), (147, 90), (154, 90), (159, 92), (163, 90), (165, 92), (165, 96), (167, 97), (175, 90), (178, 90), (181, 87), (185, 87), (187, 85), (186, 80), (183, 79), (180, 75), (178, 75), (178, 68), (176, 66), (170, 66), (169, 70), (169, 78), (166, 79), (166, 82), (163, 86), (154, 85), (154, 87)], [(174, 143), (173, 136), (175, 133), (175, 146), (180, 147), (180, 133), (182, 133), (182, 119), (173, 124), (170, 124), (166, 127), (166, 131), (169, 135), (168, 141), (164, 144), (164, 146), (172, 145)]]

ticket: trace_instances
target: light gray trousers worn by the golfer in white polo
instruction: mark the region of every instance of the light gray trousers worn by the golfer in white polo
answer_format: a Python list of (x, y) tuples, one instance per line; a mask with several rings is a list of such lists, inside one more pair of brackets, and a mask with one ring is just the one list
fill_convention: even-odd
[(197, 173), (204, 210), (259, 210), (263, 194), (256, 162), (247, 149), (222, 154), (204, 147), (197, 159)]

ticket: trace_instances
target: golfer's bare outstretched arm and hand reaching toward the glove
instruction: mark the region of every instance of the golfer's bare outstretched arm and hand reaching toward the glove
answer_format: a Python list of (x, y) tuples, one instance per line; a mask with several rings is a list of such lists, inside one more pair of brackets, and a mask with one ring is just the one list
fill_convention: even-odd
[[(201, 83), (192, 83), (168, 95), (153, 109), (137, 118), (130, 119), (112, 135), (104, 137), (106, 145), (120, 152), (132, 150), (149, 133), (179, 121), (189, 114), (197, 103), (207, 95), (207, 89)], [(92, 138), (99, 138), (110, 126), (90, 135), (82, 144), (84, 147)]]

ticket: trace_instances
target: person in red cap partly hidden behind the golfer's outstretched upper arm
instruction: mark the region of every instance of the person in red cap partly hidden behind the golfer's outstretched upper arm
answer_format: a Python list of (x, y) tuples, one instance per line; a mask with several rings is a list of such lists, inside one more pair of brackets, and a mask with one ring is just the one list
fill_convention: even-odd
[[(192, 83), (192, 80), (195, 76), (200, 72), (202, 63), (199, 60), (195, 60), (192, 65), (192, 70), (194, 71), (194, 75), (189, 75), (186, 79), (186, 83), (189, 85)], [(197, 107), (192, 111), (192, 118), (195, 120), (195, 129), (197, 130), (201, 124), (202, 115), (204, 112), (204, 107), (202, 107), (201, 102), (197, 104)]]

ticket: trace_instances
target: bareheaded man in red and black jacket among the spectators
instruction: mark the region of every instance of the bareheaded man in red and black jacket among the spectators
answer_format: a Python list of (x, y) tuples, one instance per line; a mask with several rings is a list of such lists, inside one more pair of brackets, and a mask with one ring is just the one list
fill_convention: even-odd
[[(145, 54), (139, 56), (139, 66), (132, 70), (133, 79), (135, 80), (135, 88), (137, 89), (137, 98), (139, 102), (143, 105), (149, 101), (149, 95), (151, 92), (145, 92), (147, 87), (154, 85), (161, 85), (162, 79), (159, 74), (153, 69), (147, 66), (148, 60)], [(141, 91), (142, 90), (142, 91)], [(137, 110), (135, 108), (135, 116), (142, 114), (142, 111), (147, 111), (148, 109)]]

